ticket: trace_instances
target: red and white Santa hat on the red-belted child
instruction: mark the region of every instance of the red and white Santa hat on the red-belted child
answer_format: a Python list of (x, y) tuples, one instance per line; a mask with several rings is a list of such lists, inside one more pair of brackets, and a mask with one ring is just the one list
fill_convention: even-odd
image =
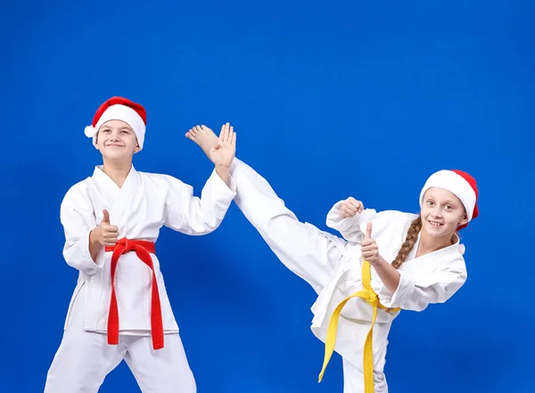
[(136, 134), (139, 150), (143, 149), (144, 133), (147, 124), (147, 113), (142, 105), (124, 97), (111, 97), (96, 111), (91, 126), (86, 127), (86, 136), (93, 138), (96, 147), (96, 135), (106, 121), (122, 120)]

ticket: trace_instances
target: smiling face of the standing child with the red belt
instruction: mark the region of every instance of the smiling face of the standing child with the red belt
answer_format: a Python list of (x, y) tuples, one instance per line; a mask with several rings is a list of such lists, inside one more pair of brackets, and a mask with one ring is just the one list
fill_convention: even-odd
[(134, 130), (121, 120), (106, 121), (99, 128), (96, 148), (106, 160), (132, 160), (140, 150)]

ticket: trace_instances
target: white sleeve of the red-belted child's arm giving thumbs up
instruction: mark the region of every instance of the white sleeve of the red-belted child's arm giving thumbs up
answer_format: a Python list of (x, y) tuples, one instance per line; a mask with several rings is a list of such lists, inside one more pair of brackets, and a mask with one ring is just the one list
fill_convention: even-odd
[(63, 198), (60, 217), (65, 233), (63, 258), (80, 272), (93, 275), (104, 264), (104, 251), (96, 262), (89, 253), (89, 233), (96, 227), (93, 205), (82, 190), (71, 188)]

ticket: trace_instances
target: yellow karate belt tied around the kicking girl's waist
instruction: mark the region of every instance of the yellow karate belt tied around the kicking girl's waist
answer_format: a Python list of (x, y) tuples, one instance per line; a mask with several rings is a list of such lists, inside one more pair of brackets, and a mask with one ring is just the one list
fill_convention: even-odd
[(349, 298), (344, 299), (338, 307), (333, 311), (331, 320), (329, 321), (329, 327), (327, 329), (327, 338), (325, 340), (325, 359), (324, 364), (319, 373), (319, 382), (321, 382), (325, 373), (325, 368), (333, 355), (334, 344), (336, 342), (336, 330), (338, 328), (338, 318), (340, 312), (349, 299), (361, 298), (365, 299), (372, 307), (374, 307), (374, 315), (372, 319), (372, 326), (366, 335), (366, 341), (364, 343), (364, 391), (365, 393), (374, 393), (374, 350), (372, 346), (373, 332), (375, 319), (377, 317), (377, 307), (383, 308), (386, 312), (397, 312), (400, 308), (388, 308), (384, 307), (379, 301), (379, 297), (374, 292), (371, 286), (372, 281), (372, 266), (366, 260), (362, 262), (362, 286), (364, 290), (353, 293)]

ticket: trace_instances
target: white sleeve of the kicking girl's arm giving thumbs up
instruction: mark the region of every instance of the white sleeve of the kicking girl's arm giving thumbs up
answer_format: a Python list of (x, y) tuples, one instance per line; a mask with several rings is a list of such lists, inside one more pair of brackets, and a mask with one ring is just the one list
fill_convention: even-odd
[[(385, 307), (401, 307), (404, 310), (423, 311), (433, 303), (445, 303), (466, 281), (464, 261), (456, 261), (448, 269), (432, 273), (408, 274), (399, 271), (398, 289), (384, 296), (381, 303)], [(381, 296), (381, 295), (380, 295)]]

